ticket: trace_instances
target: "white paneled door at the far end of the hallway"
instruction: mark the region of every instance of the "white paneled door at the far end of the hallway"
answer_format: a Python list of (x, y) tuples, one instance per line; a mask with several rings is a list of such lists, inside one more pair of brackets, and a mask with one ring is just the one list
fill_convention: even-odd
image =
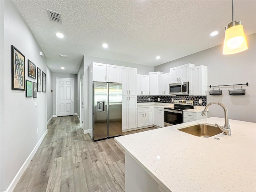
[(74, 80), (57, 78), (57, 116), (73, 115)]

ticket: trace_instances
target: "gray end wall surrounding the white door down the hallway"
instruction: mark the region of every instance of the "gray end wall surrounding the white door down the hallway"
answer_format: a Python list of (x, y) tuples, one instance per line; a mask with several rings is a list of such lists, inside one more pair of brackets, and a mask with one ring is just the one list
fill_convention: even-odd
[(73, 78), (74, 79), (74, 113), (77, 113), (77, 75), (69, 73), (52, 73), (52, 114), (56, 115), (56, 78)]

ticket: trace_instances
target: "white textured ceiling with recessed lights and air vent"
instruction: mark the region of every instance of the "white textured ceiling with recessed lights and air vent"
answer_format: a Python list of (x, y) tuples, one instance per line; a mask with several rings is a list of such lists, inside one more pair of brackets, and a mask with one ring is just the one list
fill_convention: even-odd
[[(63, 72), (60, 66), (64, 66), (65, 72), (74, 74), (83, 55), (157, 66), (217, 46), (232, 13), (231, 0), (15, 0), (14, 4), (49, 68)], [(62, 24), (50, 21), (46, 9), (62, 14)], [(247, 35), (256, 32), (255, 10), (255, 0), (235, 0), (234, 19), (242, 21)], [(214, 30), (220, 33), (210, 37)], [(64, 38), (57, 38), (56, 32)], [(108, 49), (102, 48), (104, 42)]]

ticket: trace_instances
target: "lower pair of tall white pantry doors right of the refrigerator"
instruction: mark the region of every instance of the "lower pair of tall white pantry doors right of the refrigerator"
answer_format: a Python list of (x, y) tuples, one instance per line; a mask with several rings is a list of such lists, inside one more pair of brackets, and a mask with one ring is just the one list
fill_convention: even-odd
[(122, 96), (122, 130), (138, 127), (137, 96)]

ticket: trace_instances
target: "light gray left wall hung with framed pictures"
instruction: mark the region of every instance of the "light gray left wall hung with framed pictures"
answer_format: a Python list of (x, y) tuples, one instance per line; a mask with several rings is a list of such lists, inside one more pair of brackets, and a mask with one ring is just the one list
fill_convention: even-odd
[[(1, 1), (1, 14), (2, 5)], [(25, 91), (11, 89), (11, 45), (26, 57), (26, 79), (36, 81), (28, 78), (28, 59), (46, 72), (46, 58), (39, 55), (42, 50), (38, 42), (14, 3), (4, 1), (4, 50), (1, 50), (1, 80), (4, 76), (4, 86), (2, 87), (1, 81), (0, 191), (8, 188), (22, 164), (46, 132), (46, 93), (38, 92), (37, 98), (26, 98)], [(4, 53), (4, 62), (2, 62), (2, 53)], [(2, 91), (4, 91), (4, 98)], [(4, 104), (2, 104), (3, 101)], [(37, 107), (35, 102), (38, 102)], [(4, 113), (2, 113), (2, 107)]]

